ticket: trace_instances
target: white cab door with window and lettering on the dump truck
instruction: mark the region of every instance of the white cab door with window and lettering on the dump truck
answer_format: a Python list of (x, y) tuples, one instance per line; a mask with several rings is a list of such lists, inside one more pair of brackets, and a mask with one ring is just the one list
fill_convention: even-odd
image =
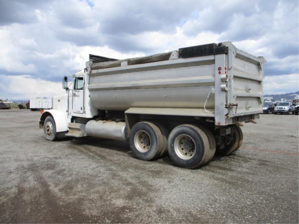
[(84, 112), (84, 77), (76, 77), (73, 90), (73, 112)]

